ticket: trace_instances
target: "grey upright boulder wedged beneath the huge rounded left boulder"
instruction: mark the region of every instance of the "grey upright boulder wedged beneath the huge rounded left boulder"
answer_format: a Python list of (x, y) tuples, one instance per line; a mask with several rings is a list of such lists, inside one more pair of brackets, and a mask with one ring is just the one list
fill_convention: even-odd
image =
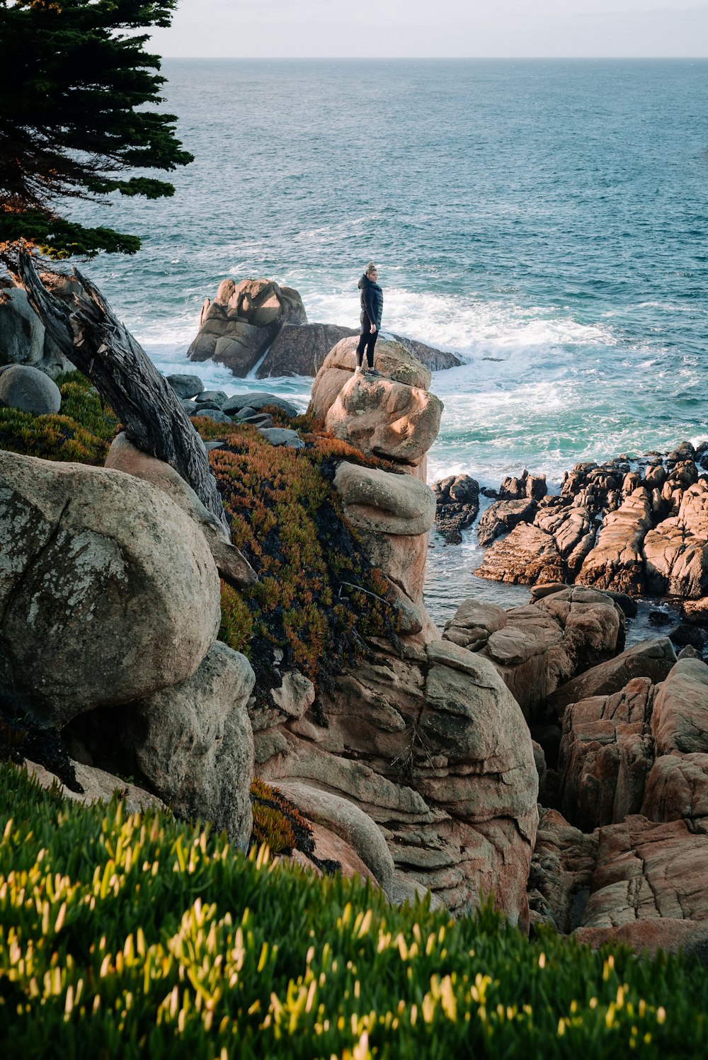
[(216, 641), (191, 677), (131, 704), (124, 723), (151, 788), (178, 816), (213, 822), (244, 849), (252, 828), (247, 703), (254, 683), (248, 659)]

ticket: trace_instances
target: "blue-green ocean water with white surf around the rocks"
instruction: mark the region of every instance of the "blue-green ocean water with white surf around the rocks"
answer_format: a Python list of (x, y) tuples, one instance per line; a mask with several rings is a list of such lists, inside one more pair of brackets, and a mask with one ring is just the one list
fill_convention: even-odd
[[(158, 367), (188, 370), (227, 276), (297, 287), (356, 326), (369, 259), (384, 330), (454, 350), (433, 376), (430, 478), (708, 437), (708, 60), (165, 60), (196, 161), (174, 198), (82, 206), (136, 232), (86, 266)], [(218, 366), (210, 386), (263, 389)], [(311, 381), (268, 389), (304, 408)], [(477, 584), (474, 538), (430, 550), (432, 611)], [(464, 590), (464, 591), (462, 591)], [(449, 598), (449, 599), (448, 599)]]

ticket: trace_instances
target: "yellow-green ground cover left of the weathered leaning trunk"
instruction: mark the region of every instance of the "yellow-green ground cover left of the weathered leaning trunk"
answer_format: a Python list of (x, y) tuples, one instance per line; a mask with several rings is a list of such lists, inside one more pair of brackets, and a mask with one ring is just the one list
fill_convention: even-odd
[(74, 461), (102, 466), (116, 435), (118, 420), (102, 408), (91, 383), (81, 372), (60, 376), (61, 410), (32, 416), (0, 408), (0, 448), (42, 460)]

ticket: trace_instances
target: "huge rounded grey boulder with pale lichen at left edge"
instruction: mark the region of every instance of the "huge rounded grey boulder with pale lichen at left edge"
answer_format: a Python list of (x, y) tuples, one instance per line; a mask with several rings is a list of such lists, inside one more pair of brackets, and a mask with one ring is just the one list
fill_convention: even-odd
[(63, 725), (190, 677), (220, 621), (203, 534), (147, 482), (0, 452), (0, 685)]

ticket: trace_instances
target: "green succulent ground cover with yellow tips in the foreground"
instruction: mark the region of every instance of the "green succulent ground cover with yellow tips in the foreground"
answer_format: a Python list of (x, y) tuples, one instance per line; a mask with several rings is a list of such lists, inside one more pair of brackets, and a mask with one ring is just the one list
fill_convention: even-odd
[(708, 972), (454, 921), (0, 765), (3, 1057), (704, 1055)]

